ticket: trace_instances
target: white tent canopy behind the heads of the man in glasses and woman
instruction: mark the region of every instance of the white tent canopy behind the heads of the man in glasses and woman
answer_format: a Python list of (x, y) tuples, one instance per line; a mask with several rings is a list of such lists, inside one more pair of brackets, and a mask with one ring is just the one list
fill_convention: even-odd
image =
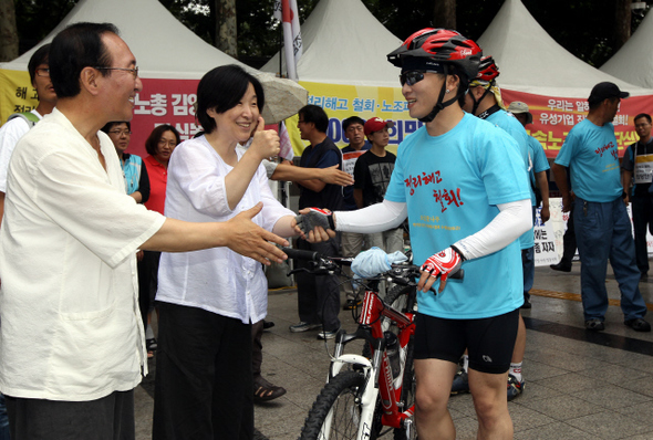
[[(199, 80), (224, 64), (245, 64), (206, 43), (157, 0), (80, 0), (38, 46), (52, 41), (66, 25), (81, 21), (115, 24), (136, 56), (142, 77)], [(34, 48), (0, 69), (27, 71)], [(249, 71), (253, 69), (248, 67)]]

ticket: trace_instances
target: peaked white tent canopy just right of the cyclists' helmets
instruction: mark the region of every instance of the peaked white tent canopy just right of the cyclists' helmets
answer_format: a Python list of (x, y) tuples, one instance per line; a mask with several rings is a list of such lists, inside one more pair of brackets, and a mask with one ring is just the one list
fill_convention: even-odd
[[(587, 98), (594, 84), (610, 81), (631, 95), (652, 93), (572, 55), (542, 29), (520, 0), (506, 0), (477, 42), (484, 55), (495, 59), (501, 72), (498, 83), (508, 90)], [(650, 70), (642, 71), (643, 74), (646, 72)]]

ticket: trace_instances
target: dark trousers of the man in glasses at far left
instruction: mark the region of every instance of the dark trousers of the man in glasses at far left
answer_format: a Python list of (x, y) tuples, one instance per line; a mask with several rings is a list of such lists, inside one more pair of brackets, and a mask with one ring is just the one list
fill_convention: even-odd
[(134, 440), (134, 390), (90, 401), (6, 396), (12, 440)]

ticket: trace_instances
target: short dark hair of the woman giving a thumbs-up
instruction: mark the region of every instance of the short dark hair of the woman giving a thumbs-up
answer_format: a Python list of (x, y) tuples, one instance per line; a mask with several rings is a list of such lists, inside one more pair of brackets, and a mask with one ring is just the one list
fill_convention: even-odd
[(249, 84), (257, 95), (259, 112), (263, 111), (266, 95), (261, 83), (245, 69), (227, 64), (207, 72), (197, 85), (196, 117), (206, 133), (216, 129), (216, 121), (207, 114), (209, 108), (225, 113), (234, 108), (247, 92)]

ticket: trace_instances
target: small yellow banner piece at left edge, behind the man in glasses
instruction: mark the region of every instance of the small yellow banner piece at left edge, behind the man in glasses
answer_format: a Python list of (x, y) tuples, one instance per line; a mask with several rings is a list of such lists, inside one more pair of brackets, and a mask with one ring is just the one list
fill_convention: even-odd
[(28, 72), (0, 69), (0, 125), (12, 114), (30, 112), (38, 105), (37, 90), (30, 84)]

